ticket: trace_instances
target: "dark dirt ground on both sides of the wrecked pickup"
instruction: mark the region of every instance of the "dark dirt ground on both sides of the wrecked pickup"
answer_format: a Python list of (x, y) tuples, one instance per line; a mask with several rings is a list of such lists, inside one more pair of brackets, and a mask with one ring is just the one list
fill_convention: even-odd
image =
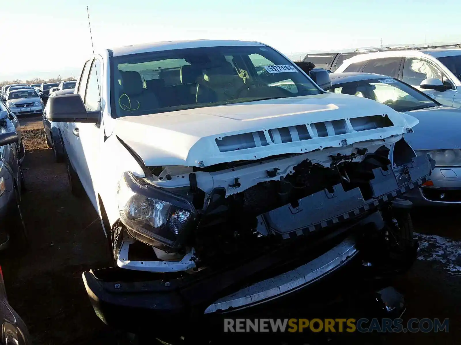
[[(65, 165), (53, 162), (41, 117), (22, 119), (23, 168), (28, 191), (22, 208), (31, 247), (2, 253), (8, 299), (24, 319), (34, 344), (117, 344), (114, 332), (95, 315), (82, 272), (109, 264), (95, 210), (71, 196)], [(373, 344), (458, 344), (461, 329), (460, 209), (414, 213), (420, 257), (395, 287), (405, 294), (404, 318), (449, 318), (449, 333), (384, 334)]]

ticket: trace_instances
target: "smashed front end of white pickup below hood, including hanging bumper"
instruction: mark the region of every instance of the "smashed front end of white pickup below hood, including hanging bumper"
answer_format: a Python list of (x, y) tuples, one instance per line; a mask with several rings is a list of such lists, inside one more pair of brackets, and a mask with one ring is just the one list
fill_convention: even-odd
[(114, 308), (161, 318), (241, 310), (354, 260), (405, 270), (416, 246), (402, 195), (433, 167), (392, 135), (210, 167), (150, 167), (144, 178), (124, 173), (112, 229), (118, 267), (83, 280), (98, 316), (117, 324)]

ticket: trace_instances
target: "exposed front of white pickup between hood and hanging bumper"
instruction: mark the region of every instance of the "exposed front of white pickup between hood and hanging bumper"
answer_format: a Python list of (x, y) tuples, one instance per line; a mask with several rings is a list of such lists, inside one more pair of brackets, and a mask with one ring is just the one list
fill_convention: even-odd
[[(194, 273), (387, 207), (426, 181), (431, 162), (395, 135), (259, 161), (149, 169), (150, 177), (125, 176), (129, 190), (152, 194), (120, 207), (127, 216), (112, 231), (114, 258), (132, 270)], [(142, 219), (143, 209), (157, 218)]]

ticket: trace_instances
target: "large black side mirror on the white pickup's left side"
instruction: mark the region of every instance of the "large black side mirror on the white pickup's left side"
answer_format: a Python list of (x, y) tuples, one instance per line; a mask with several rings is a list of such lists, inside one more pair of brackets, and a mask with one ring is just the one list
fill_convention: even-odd
[(48, 98), (47, 118), (53, 122), (98, 123), (100, 109), (87, 111), (78, 93), (53, 96)]

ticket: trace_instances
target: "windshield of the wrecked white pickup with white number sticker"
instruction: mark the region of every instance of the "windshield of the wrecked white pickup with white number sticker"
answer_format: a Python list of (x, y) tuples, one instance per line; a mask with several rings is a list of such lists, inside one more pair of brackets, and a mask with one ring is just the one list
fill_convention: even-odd
[[(111, 58), (117, 117), (321, 93), (266, 46), (224, 46)], [(290, 91), (277, 82), (290, 82)]]

